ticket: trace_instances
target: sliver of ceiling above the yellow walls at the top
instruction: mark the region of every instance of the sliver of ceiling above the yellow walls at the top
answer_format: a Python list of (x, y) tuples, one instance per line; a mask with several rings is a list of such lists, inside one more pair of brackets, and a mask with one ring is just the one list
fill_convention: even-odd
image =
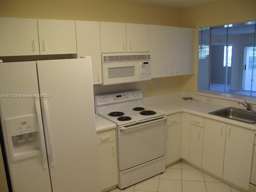
[(116, 0), (124, 2), (133, 2), (138, 4), (156, 5), (170, 8), (188, 8), (199, 4), (205, 4), (216, 0)]

